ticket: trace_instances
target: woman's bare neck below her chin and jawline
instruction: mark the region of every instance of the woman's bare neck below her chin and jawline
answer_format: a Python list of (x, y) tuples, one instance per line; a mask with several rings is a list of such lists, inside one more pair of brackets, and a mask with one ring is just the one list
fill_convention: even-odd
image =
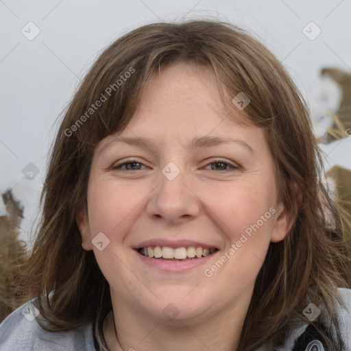
[(245, 291), (242, 298), (221, 311), (167, 323), (161, 317), (135, 311), (126, 302), (117, 303), (121, 298), (112, 298), (113, 311), (119, 312), (111, 311), (106, 317), (106, 342), (111, 351), (236, 351), (252, 294), (248, 295), (250, 298)]

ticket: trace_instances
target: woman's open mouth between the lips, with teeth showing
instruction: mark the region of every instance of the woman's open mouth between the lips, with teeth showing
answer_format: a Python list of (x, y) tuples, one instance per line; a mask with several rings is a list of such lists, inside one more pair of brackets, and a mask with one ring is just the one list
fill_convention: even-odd
[(170, 246), (147, 246), (139, 247), (136, 251), (141, 256), (155, 258), (159, 261), (195, 261), (215, 254), (218, 251), (216, 247), (170, 247)]

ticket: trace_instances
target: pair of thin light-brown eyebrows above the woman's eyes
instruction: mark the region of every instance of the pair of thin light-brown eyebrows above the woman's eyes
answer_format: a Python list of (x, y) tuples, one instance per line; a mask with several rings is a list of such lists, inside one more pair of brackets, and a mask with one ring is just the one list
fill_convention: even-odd
[[(102, 152), (105, 147), (108, 147), (110, 144), (114, 143), (125, 143), (127, 145), (135, 146), (135, 147), (140, 147), (141, 149), (150, 149), (150, 146), (156, 146), (156, 142), (151, 139), (151, 138), (146, 138), (146, 137), (136, 137), (136, 138), (130, 138), (130, 137), (118, 137), (115, 138), (113, 141), (110, 143), (106, 144), (100, 152)], [(242, 141), (240, 139), (235, 139), (235, 138), (226, 138), (223, 136), (195, 136), (193, 138), (193, 142), (191, 143), (191, 149), (202, 149), (206, 147), (213, 147), (225, 143), (232, 143), (232, 144), (239, 144), (248, 149), (250, 152), (254, 153), (254, 150), (250, 145), (245, 143), (245, 141)]]

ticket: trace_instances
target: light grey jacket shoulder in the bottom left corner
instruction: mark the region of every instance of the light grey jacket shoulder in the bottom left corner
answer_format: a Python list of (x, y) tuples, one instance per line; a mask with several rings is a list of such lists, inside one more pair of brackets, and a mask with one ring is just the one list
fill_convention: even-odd
[(38, 310), (32, 302), (17, 308), (0, 324), (0, 351), (96, 351), (92, 324), (77, 330), (49, 332), (36, 322)]

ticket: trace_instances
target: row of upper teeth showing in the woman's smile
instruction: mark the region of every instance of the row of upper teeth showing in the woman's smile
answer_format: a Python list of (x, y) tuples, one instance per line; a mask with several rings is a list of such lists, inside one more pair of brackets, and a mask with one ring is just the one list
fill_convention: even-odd
[(200, 258), (202, 256), (208, 256), (209, 254), (212, 254), (216, 249), (211, 248), (211, 249), (203, 249), (202, 247), (195, 247), (195, 246), (189, 246), (188, 248), (186, 247), (177, 247), (173, 249), (173, 247), (169, 246), (148, 246), (144, 247), (141, 249), (141, 253), (144, 254), (147, 257), (154, 257), (154, 258), (178, 258), (178, 260), (182, 260), (186, 257), (188, 258), (194, 258), (195, 256), (197, 258)]

